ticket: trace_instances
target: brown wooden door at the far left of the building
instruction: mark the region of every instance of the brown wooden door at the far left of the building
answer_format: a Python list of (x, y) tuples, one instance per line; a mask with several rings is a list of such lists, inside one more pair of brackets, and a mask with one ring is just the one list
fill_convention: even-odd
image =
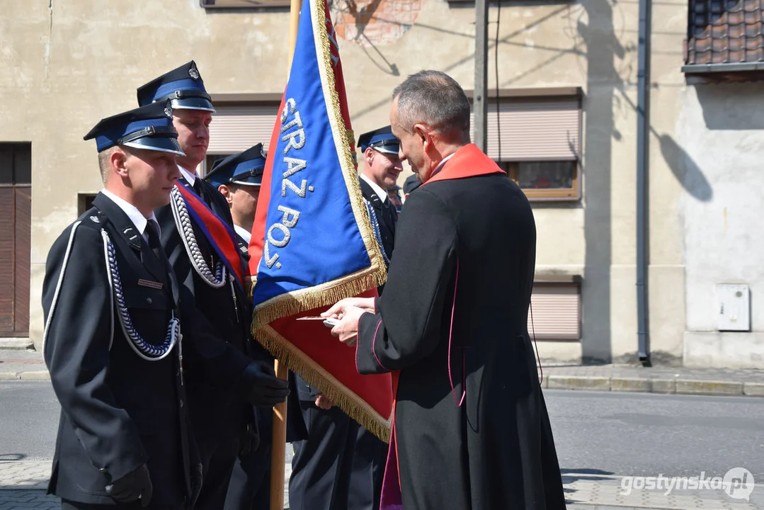
[(31, 145), (0, 144), (0, 336), (29, 335)]

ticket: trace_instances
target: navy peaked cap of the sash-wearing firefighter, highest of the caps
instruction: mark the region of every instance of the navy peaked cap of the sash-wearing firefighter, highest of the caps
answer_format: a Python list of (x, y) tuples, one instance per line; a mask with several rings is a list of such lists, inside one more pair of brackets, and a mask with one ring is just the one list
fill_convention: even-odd
[(138, 88), (138, 104), (170, 99), (174, 109), (215, 112), (196, 62), (191, 60)]

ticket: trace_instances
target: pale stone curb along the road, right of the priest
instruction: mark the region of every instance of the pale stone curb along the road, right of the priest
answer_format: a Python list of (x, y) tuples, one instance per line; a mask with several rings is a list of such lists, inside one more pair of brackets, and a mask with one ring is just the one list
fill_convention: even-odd
[(547, 375), (542, 388), (585, 391), (629, 391), (675, 395), (717, 395), (764, 397), (762, 382), (695, 381), (692, 379), (637, 379)]

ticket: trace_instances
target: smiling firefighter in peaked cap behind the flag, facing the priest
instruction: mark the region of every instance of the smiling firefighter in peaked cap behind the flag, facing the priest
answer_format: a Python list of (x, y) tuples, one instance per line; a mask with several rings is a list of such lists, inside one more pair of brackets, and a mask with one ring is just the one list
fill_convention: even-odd
[[(395, 185), (403, 171), (398, 140), (387, 126), (361, 135), (358, 147), (364, 159), (361, 193), (370, 210), (377, 242), (389, 264), (398, 214), (387, 196), (387, 188)], [(378, 289), (380, 294), (383, 287)], [(295, 392), (307, 437), (293, 443), (290, 507), (378, 510), (387, 444), (297, 375), (293, 376)], [(287, 415), (288, 421), (290, 416)], [(299, 425), (293, 426), (293, 430), (299, 430)]]

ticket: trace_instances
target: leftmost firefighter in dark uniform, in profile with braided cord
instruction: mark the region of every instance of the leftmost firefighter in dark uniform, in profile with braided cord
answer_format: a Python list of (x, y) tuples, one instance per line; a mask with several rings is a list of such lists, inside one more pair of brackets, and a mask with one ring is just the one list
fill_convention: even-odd
[(167, 102), (103, 119), (104, 189), (47, 257), (44, 358), (61, 416), (48, 492), (62, 508), (190, 508), (179, 295), (154, 209), (183, 154)]

